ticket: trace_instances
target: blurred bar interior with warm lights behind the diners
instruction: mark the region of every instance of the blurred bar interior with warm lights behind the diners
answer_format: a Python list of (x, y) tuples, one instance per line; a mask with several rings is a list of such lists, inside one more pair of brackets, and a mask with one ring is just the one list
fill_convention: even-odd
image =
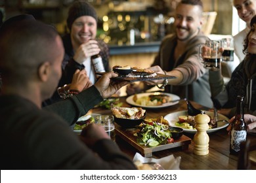
[[(68, 32), (66, 17), (73, 0), (0, 0), (0, 20), (32, 14), (54, 25), (60, 35)], [(161, 39), (173, 33), (173, 13), (179, 0), (88, 0), (98, 14), (97, 36), (110, 46), (110, 67), (149, 67)], [(202, 0), (202, 31), (211, 39), (236, 35), (245, 28), (232, 0)]]

